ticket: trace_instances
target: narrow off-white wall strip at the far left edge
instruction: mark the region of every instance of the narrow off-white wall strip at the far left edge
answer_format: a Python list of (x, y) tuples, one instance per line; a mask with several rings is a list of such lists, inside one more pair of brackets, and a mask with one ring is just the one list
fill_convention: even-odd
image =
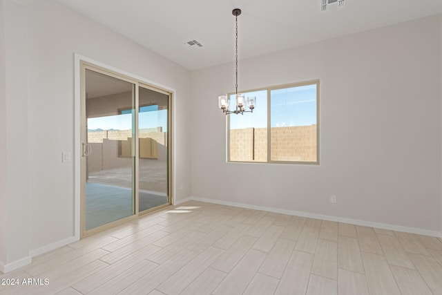
[[(1, 183), (3, 230), (0, 271), (30, 262), (29, 250), (29, 164), (28, 164), (28, 26), (25, 6), (3, 1), (4, 110)], [(3, 98), (4, 95), (4, 98)], [(5, 153), (6, 152), (6, 153)], [(4, 165), (4, 166), (3, 166)], [(2, 177), (3, 178), (3, 177)]]

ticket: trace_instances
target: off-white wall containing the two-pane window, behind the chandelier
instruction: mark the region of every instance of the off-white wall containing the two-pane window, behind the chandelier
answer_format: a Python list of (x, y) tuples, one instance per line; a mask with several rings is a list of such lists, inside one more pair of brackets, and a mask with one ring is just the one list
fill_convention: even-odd
[(193, 72), (192, 196), (441, 230), (440, 39), (438, 15), (240, 60), (244, 91), (320, 79), (319, 166), (226, 163), (234, 66)]

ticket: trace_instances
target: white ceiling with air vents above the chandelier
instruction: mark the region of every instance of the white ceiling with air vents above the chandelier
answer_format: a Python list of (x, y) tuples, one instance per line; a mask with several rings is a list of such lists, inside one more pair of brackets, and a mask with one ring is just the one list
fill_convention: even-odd
[(442, 12), (442, 0), (345, 0), (325, 11), (322, 0), (58, 1), (189, 70), (235, 59), (233, 8), (239, 59)]

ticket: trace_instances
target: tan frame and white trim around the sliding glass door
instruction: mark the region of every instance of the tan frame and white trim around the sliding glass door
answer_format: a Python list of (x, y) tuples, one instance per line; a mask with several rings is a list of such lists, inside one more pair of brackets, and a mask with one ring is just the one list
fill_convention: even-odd
[[(82, 157), (82, 140), (84, 140), (84, 132), (86, 130), (86, 89), (85, 89), (85, 73), (86, 69), (93, 70), (97, 73), (102, 73), (104, 75), (108, 75), (110, 77), (115, 77), (117, 79), (122, 79), (126, 82), (130, 82), (135, 85), (135, 147), (133, 148), (133, 153), (135, 153), (135, 167), (133, 167), (133, 190), (135, 199), (135, 213), (126, 218), (122, 218), (120, 220), (116, 220), (114, 222), (110, 222), (106, 225), (102, 225), (96, 227), (94, 229), (89, 229), (86, 231), (86, 191), (85, 184), (86, 182), (82, 180), (82, 177), (85, 177), (85, 164), (81, 164), (81, 162), (85, 161)], [(139, 140), (138, 139), (138, 120), (139, 120), (139, 89), (140, 86), (143, 88), (148, 88), (153, 91), (157, 91), (159, 93), (163, 93), (168, 95), (168, 120), (167, 120), (167, 187), (168, 187), (168, 202), (166, 204), (162, 204), (158, 207), (154, 207), (152, 209), (147, 209), (145, 211), (139, 211)], [(175, 200), (175, 196), (173, 193), (173, 187), (175, 187), (174, 175), (175, 171), (173, 170), (173, 130), (174, 130), (174, 120), (173, 120), (173, 96), (175, 91), (173, 88), (169, 88), (166, 86), (162, 86), (155, 82), (148, 81), (144, 78), (137, 77), (135, 75), (131, 75), (130, 73), (126, 73), (122, 70), (118, 70), (116, 68), (112, 68), (110, 66), (106, 66), (98, 61), (93, 61), (92, 59), (88, 59), (86, 57), (81, 57), (80, 55), (75, 55), (75, 238), (80, 239), (90, 234), (95, 234), (98, 231), (103, 231), (105, 229), (115, 227), (116, 225), (121, 225), (128, 221), (134, 220), (139, 216), (142, 216), (146, 213), (150, 213), (151, 211), (156, 211), (162, 209), (164, 207), (168, 207), (173, 204)], [(86, 134), (87, 137), (87, 134)]]

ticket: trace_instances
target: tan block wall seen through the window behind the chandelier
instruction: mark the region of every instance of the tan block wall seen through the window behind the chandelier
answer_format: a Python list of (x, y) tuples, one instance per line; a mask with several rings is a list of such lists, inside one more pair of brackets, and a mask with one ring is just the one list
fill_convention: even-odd
[[(316, 124), (310, 126), (273, 127), (271, 160), (316, 161)], [(231, 161), (267, 161), (267, 129), (248, 128), (230, 131)]]

